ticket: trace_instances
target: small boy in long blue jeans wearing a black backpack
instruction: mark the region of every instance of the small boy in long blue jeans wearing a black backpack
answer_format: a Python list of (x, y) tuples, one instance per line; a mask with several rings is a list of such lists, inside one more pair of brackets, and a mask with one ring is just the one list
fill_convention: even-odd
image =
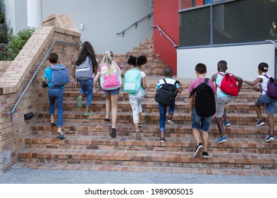
[(168, 124), (174, 124), (172, 121), (173, 113), (175, 110), (175, 97), (177, 93), (182, 92), (182, 87), (179, 81), (175, 81), (173, 77), (173, 70), (166, 67), (164, 70), (165, 78), (158, 81), (156, 84), (157, 92), (155, 95), (155, 100), (158, 103), (158, 108), (160, 112), (160, 132), (161, 138), (160, 142), (165, 142), (165, 120), (166, 120), (166, 108), (169, 106), (168, 110)]

